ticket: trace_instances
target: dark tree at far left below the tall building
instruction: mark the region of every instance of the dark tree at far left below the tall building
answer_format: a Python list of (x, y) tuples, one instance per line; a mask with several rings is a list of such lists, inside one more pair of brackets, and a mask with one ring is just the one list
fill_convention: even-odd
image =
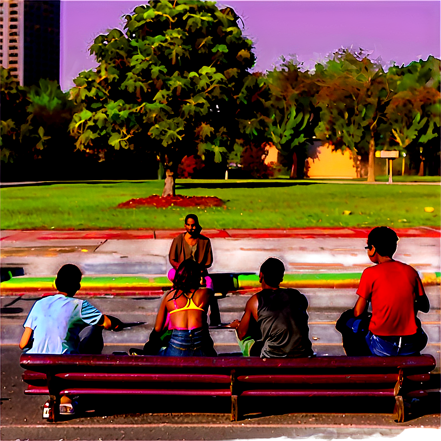
[(2, 179), (12, 173), (16, 180), (47, 179), (45, 170), (73, 153), (67, 127), (74, 104), (56, 81), (25, 87), (8, 69), (0, 72)]

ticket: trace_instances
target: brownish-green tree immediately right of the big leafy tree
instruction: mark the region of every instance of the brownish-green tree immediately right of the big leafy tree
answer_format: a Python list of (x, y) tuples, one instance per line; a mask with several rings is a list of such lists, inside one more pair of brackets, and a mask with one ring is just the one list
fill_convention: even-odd
[(272, 142), (291, 170), (290, 177), (303, 178), (307, 147), (319, 122), (314, 97), (318, 87), (295, 58), (280, 61), (272, 71), (246, 79), (243, 95), (248, 100), (239, 115), (247, 141), (237, 140), (236, 147), (242, 142), (254, 146)]

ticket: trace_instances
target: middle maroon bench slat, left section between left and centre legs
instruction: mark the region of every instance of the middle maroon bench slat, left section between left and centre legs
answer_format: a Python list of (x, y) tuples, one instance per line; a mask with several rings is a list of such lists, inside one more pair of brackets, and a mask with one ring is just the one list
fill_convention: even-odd
[(228, 375), (216, 374), (105, 374), (99, 372), (66, 372), (56, 374), (58, 378), (80, 381), (146, 381), (146, 382), (186, 382), (186, 383), (226, 383)]

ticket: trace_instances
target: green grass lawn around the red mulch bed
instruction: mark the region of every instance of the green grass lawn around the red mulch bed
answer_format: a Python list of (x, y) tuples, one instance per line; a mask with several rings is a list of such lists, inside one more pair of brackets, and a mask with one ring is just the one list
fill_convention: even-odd
[(160, 194), (162, 186), (147, 181), (3, 188), (0, 227), (172, 229), (181, 228), (188, 213), (197, 214), (204, 228), (440, 225), (438, 185), (178, 180), (177, 194), (217, 196), (224, 207), (117, 208), (131, 198)]

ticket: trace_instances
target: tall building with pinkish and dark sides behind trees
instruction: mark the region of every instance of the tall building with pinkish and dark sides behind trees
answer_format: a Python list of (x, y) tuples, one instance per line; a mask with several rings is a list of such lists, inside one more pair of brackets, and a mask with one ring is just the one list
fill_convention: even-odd
[(60, 81), (60, 0), (0, 1), (0, 63), (20, 84)]

